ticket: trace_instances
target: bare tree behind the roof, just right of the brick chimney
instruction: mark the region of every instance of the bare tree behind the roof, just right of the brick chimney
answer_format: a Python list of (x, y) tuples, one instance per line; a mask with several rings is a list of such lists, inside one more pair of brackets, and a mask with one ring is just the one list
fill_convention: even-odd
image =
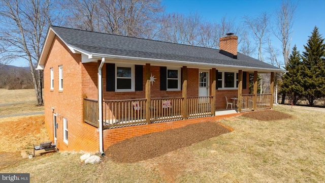
[(253, 39), (257, 43), (257, 59), (264, 62), (262, 48), (266, 42), (267, 34), (269, 32), (268, 24), (269, 24), (269, 15), (267, 13), (262, 13), (256, 18), (250, 18), (248, 16), (244, 16), (244, 22), (252, 31), (254, 37)]

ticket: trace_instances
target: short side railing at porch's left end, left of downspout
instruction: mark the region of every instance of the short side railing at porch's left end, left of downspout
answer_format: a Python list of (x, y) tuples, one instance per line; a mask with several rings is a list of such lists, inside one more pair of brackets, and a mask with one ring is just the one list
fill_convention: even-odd
[(83, 118), (85, 123), (90, 124), (94, 127), (98, 127), (99, 124), (98, 101), (92, 99), (84, 99), (83, 102), (84, 102)]

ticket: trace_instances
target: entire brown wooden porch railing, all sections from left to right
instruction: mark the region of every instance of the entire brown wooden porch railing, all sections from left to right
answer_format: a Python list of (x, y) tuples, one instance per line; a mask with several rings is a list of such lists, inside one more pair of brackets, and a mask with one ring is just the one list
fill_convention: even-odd
[[(271, 94), (258, 94), (256, 110), (271, 108)], [(150, 112), (150, 123), (160, 123), (184, 118), (206, 117), (214, 115), (211, 110), (213, 97), (188, 97), (187, 108), (184, 98), (151, 99), (149, 111), (146, 111), (146, 99), (105, 100), (103, 101), (104, 129), (147, 124), (146, 112)], [(254, 95), (242, 95), (242, 112), (254, 110)], [(185, 112), (185, 111), (186, 112)], [(184, 116), (186, 113), (187, 116)], [(84, 99), (84, 121), (99, 126), (98, 101)]]

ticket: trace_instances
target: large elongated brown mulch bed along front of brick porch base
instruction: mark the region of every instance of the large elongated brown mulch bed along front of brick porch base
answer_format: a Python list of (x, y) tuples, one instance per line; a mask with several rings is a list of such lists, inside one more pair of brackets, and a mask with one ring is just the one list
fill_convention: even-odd
[(178, 129), (133, 137), (113, 144), (105, 153), (115, 162), (134, 163), (159, 157), (170, 151), (229, 132), (229, 129), (217, 123), (192, 124)]

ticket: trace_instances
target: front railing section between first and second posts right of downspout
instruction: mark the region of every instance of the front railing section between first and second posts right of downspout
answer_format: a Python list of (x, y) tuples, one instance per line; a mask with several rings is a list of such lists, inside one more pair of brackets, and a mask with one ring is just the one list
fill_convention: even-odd
[(183, 117), (183, 98), (156, 98), (150, 102), (151, 123), (178, 120)]

